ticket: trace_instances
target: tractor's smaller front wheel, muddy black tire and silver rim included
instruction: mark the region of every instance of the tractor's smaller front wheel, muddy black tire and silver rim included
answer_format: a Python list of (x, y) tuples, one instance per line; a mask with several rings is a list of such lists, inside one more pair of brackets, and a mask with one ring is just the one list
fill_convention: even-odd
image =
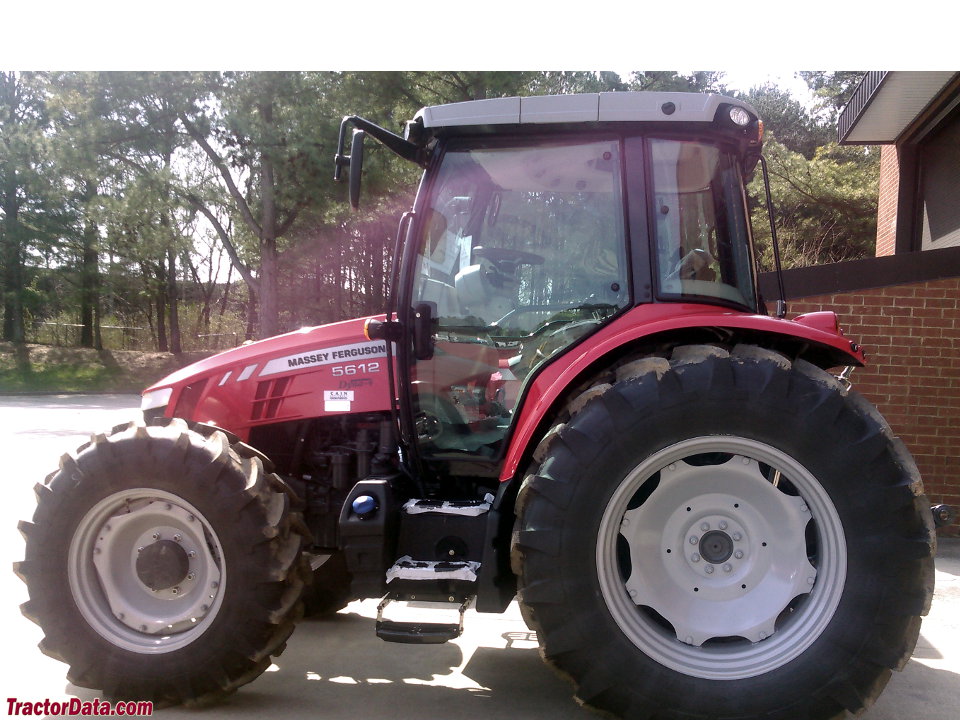
[(112, 698), (206, 704), (282, 652), (305, 530), (278, 478), (226, 436), (129, 424), (36, 488), (15, 565), (41, 650)]

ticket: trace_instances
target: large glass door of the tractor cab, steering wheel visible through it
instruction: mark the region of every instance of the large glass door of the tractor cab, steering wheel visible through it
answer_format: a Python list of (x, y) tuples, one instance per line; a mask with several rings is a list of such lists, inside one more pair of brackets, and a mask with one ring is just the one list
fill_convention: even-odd
[(419, 213), (421, 458), (494, 459), (539, 367), (629, 304), (621, 141), (446, 148)]

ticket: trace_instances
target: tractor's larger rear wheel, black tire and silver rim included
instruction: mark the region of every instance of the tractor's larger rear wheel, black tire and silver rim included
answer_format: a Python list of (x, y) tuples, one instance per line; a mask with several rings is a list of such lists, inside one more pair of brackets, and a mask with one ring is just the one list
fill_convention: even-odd
[(919, 474), (868, 403), (752, 346), (623, 368), (517, 499), (524, 616), (631, 718), (842, 716), (909, 659), (933, 589)]

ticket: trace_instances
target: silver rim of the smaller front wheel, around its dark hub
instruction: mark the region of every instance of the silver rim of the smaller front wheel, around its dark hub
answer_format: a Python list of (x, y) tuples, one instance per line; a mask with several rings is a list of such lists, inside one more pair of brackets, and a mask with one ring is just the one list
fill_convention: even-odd
[[(137, 559), (166, 543), (182, 573), (149, 587)], [(138, 653), (182, 648), (202, 634), (223, 600), (223, 548), (202, 514), (162, 490), (114, 493), (84, 515), (70, 542), (70, 591), (84, 619), (117, 647)]]

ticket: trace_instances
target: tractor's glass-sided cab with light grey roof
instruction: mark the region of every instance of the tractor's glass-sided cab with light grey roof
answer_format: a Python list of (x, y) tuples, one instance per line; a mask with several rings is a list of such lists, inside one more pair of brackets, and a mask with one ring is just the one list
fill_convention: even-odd
[(420, 457), (482, 474), (538, 371), (631, 307), (756, 313), (744, 176), (761, 132), (744, 103), (678, 93), (422, 110), (392, 140), (426, 170), (394, 289)]

